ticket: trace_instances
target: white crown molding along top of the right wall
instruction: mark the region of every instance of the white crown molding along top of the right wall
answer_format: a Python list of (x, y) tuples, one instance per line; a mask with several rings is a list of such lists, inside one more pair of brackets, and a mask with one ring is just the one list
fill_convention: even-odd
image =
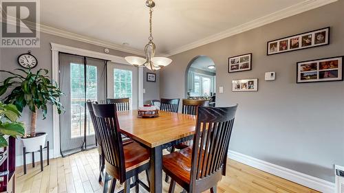
[(223, 32), (219, 32), (217, 34), (214, 34), (212, 36), (208, 36), (206, 38), (203, 38), (201, 40), (195, 41), (193, 43), (189, 43), (188, 45), (183, 45), (182, 47), (178, 47), (177, 49), (173, 49), (170, 52), (164, 54), (164, 56), (173, 56), (175, 54), (180, 54), (182, 52), (186, 52), (190, 49), (200, 47), (202, 45), (206, 45), (208, 43), (213, 43), (215, 41), (219, 41), (223, 38), (228, 38), (229, 36), (234, 36), (235, 34), (240, 34), (242, 32), (246, 32), (248, 30), (252, 30), (257, 27), (261, 27), (263, 25), (266, 25), (268, 23), (272, 23), (275, 21), (279, 21), (281, 19), (285, 19), (290, 16), (294, 16), (296, 14), (300, 14), (302, 12), (306, 12), (308, 10), (312, 10), (315, 8), (319, 8), (323, 5), (327, 5), (330, 3), (333, 3), (338, 0), (307, 0), (303, 1), (301, 3), (297, 3), (295, 5), (292, 5), (288, 8), (284, 8), (283, 10), (279, 10), (277, 12), (274, 12), (272, 14), (268, 14), (266, 16), (262, 16), (258, 19), (249, 21), (248, 23), (244, 23), (242, 25), (239, 25), (237, 27), (230, 28), (228, 30), (225, 30)]

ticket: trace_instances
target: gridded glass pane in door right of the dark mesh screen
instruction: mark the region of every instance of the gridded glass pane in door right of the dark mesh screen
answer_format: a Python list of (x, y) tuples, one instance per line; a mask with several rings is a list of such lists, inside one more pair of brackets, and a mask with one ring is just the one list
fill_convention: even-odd
[[(133, 72), (124, 69), (114, 69), (114, 97), (132, 98)], [(130, 102), (131, 104), (131, 102)]]

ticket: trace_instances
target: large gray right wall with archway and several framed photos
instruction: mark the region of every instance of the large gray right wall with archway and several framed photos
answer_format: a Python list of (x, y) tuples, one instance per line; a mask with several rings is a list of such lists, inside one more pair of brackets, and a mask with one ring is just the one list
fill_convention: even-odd
[[(344, 82), (296, 84), (296, 63), (344, 55), (344, 1), (171, 56), (160, 71), (160, 97), (184, 98), (185, 70), (198, 55), (216, 66), (217, 106), (239, 104), (230, 150), (334, 181), (333, 164), (344, 165)], [(331, 26), (331, 44), (266, 56), (276, 38)], [(252, 52), (252, 71), (228, 73), (228, 57)], [(275, 81), (264, 81), (276, 71)], [(259, 78), (259, 91), (233, 93), (231, 81)]]

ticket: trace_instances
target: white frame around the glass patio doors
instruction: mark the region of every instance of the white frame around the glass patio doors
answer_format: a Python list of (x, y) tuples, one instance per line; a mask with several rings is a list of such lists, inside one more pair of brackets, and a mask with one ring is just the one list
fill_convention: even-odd
[[(104, 54), (100, 52), (89, 51), (87, 49), (80, 49), (76, 47), (70, 47), (67, 45), (61, 45), (57, 43), (50, 43), (52, 47), (52, 79), (58, 82), (58, 53), (64, 52), (68, 54), (76, 54), (80, 56), (88, 56), (92, 58), (99, 58), (103, 60), (111, 60), (114, 63), (120, 63), (124, 65), (130, 65), (125, 58), (120, 56), (114, 56), (110, 54)], [(138, 106), (143, 104), (143, 68), (138, 69)], [(54, 135), (54, 158), (61, 157), (60, 153), (60, 122), (57, 109), (53, 108), (52, 113), (52, 128)]]

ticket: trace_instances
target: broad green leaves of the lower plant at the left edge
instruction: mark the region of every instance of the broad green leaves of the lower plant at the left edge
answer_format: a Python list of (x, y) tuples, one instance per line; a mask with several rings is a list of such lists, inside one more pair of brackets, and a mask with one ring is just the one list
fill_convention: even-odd
[(8, 145), (5, 135), (12, 137), (24, 135), (25, 128), (23, 123), (17, 122), (19, 116), (20, 113), (16, 106), (0, 102), (0, 148)]

